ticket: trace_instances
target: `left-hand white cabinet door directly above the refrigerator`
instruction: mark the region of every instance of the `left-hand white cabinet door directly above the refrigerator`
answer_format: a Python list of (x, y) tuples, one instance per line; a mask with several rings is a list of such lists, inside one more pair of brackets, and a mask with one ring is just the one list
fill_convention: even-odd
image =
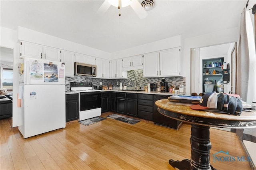
[(42, 59), (43, 46), (34, 43), (20, 42), (20, 52), (22, 57), (33, 57)]

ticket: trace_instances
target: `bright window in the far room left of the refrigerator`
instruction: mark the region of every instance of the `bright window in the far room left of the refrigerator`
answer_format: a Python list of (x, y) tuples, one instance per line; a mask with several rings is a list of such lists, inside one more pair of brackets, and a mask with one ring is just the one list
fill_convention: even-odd
[(2, 69), (2, 84), (1, 88), (12, 91), (12, 69), (3, 68)]

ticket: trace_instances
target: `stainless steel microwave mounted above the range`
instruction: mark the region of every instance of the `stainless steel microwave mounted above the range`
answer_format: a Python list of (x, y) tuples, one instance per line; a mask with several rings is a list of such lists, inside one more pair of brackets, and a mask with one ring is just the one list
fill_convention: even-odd
[(74, 75), (96, 76), (96, 65), (75, 62)]

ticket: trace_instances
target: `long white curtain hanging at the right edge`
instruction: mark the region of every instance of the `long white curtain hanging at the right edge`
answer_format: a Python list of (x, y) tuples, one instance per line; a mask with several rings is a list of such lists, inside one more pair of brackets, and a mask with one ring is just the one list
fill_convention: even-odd
[(251, 104), (256, 101), (256, 51), (252, 20), (246, 8), (240, 20), (237, 71), (237, 93)]

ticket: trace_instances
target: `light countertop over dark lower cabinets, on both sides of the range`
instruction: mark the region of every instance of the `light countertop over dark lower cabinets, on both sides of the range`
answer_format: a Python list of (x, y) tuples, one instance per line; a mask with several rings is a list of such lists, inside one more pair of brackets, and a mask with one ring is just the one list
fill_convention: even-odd
[[(158, 92), (158, 91), (129, 91), (129, 90), (102, 90), (101, 92), (107, 92), (107, 91), (112, 91), (112, 92), (121, 92), (121, 93), (138, 93), (138, 94), (150, 94), (150, 95), (167, 95), (167, 96), (172, 96), (174, 93), (169, 93), (169, 92)], [(79, 93), (79, 91), (68, 91), (66, 94), (75, 94)], [(185, 95), (185, 93), (179, 93), (179, 95)]]

